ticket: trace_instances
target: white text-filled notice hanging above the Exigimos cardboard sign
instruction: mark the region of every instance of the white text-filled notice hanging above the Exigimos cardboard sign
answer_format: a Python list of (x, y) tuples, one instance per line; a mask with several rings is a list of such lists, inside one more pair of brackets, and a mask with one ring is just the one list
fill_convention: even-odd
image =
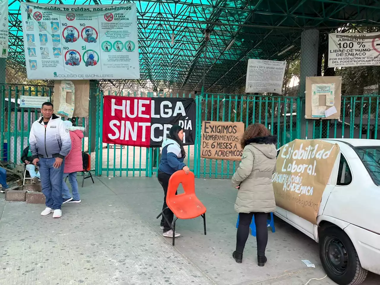
[(245, 92), (282, 94), (285, 69), (286, 61), (249, 59)]

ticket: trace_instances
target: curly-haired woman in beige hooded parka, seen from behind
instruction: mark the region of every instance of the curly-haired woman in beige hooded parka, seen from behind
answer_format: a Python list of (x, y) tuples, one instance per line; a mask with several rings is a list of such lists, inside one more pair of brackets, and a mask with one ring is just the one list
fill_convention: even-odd
[(267, 261), (265, 248), (268, 242), (267, 217), (274, 212), (276, 204), (272, 187), (272, 174), (276, 164), (277, 136), (271, 135), (262, 124), (247, 127), (241, 139), (244, 149), (239, 168), (232, 177), (232, 184), (238, 189), (235, 211), (239, 213), (236, 234), (236, 251), (232, 256), (242, 263), (249, 225), (255, 215), (257, 262), (264, 266)]

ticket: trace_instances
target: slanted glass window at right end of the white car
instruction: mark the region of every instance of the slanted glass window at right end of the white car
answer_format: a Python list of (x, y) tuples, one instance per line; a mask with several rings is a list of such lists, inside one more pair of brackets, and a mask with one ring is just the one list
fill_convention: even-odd
[(357, 146), (354, 148), (377, 186), (380, 186), (380, 146)]

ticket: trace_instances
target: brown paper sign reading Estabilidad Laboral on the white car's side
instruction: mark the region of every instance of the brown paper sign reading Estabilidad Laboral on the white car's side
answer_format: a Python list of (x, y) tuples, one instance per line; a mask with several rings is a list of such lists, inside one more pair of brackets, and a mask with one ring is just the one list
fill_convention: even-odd
[(339, 145), (323, 140), (293, 140), (283, 145), (272, 176), (276, 205), (316, 224), (338, 155)]

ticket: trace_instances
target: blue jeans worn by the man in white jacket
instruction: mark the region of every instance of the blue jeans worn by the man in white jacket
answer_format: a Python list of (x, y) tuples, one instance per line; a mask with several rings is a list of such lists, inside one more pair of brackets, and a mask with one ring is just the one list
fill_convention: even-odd
[(55, 158), (40, 158), (40, 175), (42, 193), (46, 197), (46, 207), (53, 210), (61, 209), (62, 198), (62, 179), (65, 160), (59, 168), (54, 168)]

